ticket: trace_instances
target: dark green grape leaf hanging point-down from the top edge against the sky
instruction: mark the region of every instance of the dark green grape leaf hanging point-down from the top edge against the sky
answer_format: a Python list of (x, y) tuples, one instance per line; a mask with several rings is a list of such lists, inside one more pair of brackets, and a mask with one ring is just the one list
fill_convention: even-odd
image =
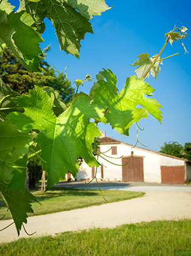
[(61, 50), (77, 58), (79, 58), (81, 47), (80, 40), (84, 39), (85, 33), (93, 33), (88, 19), (63, 0), (41, 0), (39, 2), (21, 0), (19, 12), (21, 10), (27, 10), (41, 21), (45, 17), (50, 19), (56, 29)]

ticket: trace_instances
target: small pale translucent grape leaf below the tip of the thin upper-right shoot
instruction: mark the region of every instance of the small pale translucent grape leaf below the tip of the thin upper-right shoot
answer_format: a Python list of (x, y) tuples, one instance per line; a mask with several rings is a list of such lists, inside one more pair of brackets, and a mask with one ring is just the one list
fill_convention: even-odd
[[(157, 54), (153, 55), (149, 58), (149, 54), (140, 54), (138, 55), (139, 59), (135, 61), (135, 63), (131, 64), (132, 66), (139, 66), (135, 69), (136, 75), (138, 78), (142, 78), (146, 71), (149, 69), (152, 62), (155, 60)], [(163, 64), (163, 60), (161, 57), (158, 57), (158, 60), (153, 64), (152, 68), (150, 69), (150, 74), (157, 79), (159, 71), (161, 67), (159, 64)], [(149, 78), (150, 74), (147, 74), (147, 78)]]

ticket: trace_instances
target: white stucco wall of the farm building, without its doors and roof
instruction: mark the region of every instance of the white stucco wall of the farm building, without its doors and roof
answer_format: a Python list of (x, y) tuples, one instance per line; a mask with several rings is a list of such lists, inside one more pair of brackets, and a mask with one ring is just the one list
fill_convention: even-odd
[[(111, 147), (117, 147), (117, 154), (113, 155)], [(114, 159), (110, 157), (121, 157), (130, 156), (133, 151), (134, 156), (143, 156), (144, 165), (144, 181), (145, 182), (156, 182), (161, 183), (161, 166), (182, 166), (184, 165), (183, 160), (175, 159), (172, 157), (162, 156), (153, 151), (147, 151), (141, 148), (132, 148), (130, 145), (124, 144), (102, 144), (100, 146), (100, 151), (104, 152), (107, 156), (103, 156), (108, 161), (113, 162), (118, 165), (114, 165), (107, 162), (102, 157), (98, 158), (98, 161), (104, 165), (103, 166), (103, 179), (106, 181), (122, 181), (122, 166), (121, 158)], [(191, 165), (187, 165), (186, 169), (187, 180), (191, 180)], [(85, 162), (79, 168), (79, 173), (77, 174), (77, 180), (92, 179), (92, 168), (89, 167)]]

